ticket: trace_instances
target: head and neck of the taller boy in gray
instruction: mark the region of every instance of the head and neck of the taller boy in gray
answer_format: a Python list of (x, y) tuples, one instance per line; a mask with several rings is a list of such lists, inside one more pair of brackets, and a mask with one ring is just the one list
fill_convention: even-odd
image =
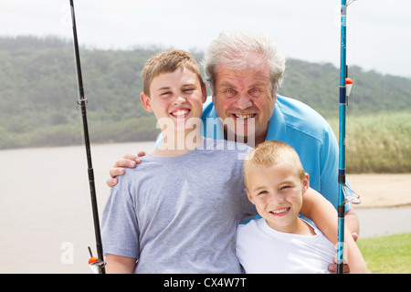
[[(203, 140), (200, 117), (206, 99), (205, 83), (193, 61), (184, 52), (174, 51), (153, 57), (142, 70), (144, 84), (150, 84), (141, 94), (142, 106), (154, 113), (164, 137), (152, 152), (154, 156), (178, 156)], [(193, 139), (188, 141), (188, 137)]]

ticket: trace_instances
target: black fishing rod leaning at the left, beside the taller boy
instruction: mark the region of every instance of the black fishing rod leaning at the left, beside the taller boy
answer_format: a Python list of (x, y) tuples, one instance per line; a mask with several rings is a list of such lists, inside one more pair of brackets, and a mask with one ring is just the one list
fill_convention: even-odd
[[(91, 163), (91, 150), (90, 150), (90, 137), (89, 137), (89, 126), (87, 122), (87, 112), (86, 104), (87, 99), (84, 98), (84, 87), (83, 87), (83, 78), (81, 76), (81, 65), (79, 58), (79, 41), (77, 37), (77, 28), (76, 28), (76, 18), (74, 16), (74, 4), (73, 0), (70, 0), (71, 6), (71, 20), (73, 24), (73, 39), (74, 39), (74, 54), (76, 60), (77, 68), (77, 78), (79, 85), (79, 100), (77, 103), (81, 109), (81, 116), (83, 120), (83, 135), (84, 143), (86, 146), (87, 162), (88, 162), (88, 172), (89, 172), (89, 183), (90, 183), (90, 196), (91, 196), (91, 207), (93, 211), (93, 221), (94, 221), (94, 231), (96, 235), (96, 247), (98, 260), (90, 262), (90, 267), (96, 274), (105, 274), (105, 264), (102, 251), (101, 235), (100, 235), (100, 222), (99, 222), (99, 211), (97, 206), (97, 196), (96, 196), (96, 187), (94, 185), (94, 171)], [(89, 248), (90, 251), (90, 248)], [(91, 255), (91, 252), (90, 252)]]

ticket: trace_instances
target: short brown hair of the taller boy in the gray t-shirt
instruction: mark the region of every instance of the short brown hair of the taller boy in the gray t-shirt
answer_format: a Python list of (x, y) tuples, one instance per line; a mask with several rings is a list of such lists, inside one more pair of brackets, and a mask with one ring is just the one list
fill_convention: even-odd
[(187, 68), (193, 71), (197, 75), (201, 87), (204, 86), (195, 58), (183, 50), (171, 49), (155, 54), (145, 63), (144, 68), (142, 68), (142, 91), (144, 94), (150, 97), (150, 85), (153, 78), (163, 73), (173, 73), (177, 68)]

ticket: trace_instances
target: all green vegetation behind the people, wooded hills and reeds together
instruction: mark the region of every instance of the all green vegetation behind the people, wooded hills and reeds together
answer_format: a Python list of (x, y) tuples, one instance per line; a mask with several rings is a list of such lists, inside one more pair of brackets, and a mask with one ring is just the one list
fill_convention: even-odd
[[(155, 119), (140, 103), (140, 74), (145, 61), (161, 49), (80, 48), (91, 142), (155, 140)], [(191, 53), (201, 61), (202, 52)], [(0, 149), (82, 142), (71, 41), (0, 36), (0, 68)], [(354, 88), (347, 167), (353, 163), (353, 172), (411, 172), (411, 79), (357, 67), (349, 73)], [(339, 69), (331, 64), (289, 59), (279, 94), (319, 111), (338, 135), (338, 83)]]

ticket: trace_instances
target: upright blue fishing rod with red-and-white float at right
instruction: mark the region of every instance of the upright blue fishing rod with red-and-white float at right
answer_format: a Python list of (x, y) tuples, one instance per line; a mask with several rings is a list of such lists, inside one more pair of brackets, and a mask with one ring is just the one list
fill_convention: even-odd
[[(337, 274), (343, 273), (344, 250), (344, 217), (346, 203), (360, 203), (359, 195), (346, 184), (345, 179), (345, 118), (348, 96), (353, 86), (353, 80), (347, 77), (346, 36), (347, 36), (347, 6), (355, 0), (341, 1), (341, 52), (340, 52), (340, 128), (339, 128), (339, 169), (338, 169), (338, 243), (337, 243)], [(349, 192), (349, 193), (348, 193)]]

